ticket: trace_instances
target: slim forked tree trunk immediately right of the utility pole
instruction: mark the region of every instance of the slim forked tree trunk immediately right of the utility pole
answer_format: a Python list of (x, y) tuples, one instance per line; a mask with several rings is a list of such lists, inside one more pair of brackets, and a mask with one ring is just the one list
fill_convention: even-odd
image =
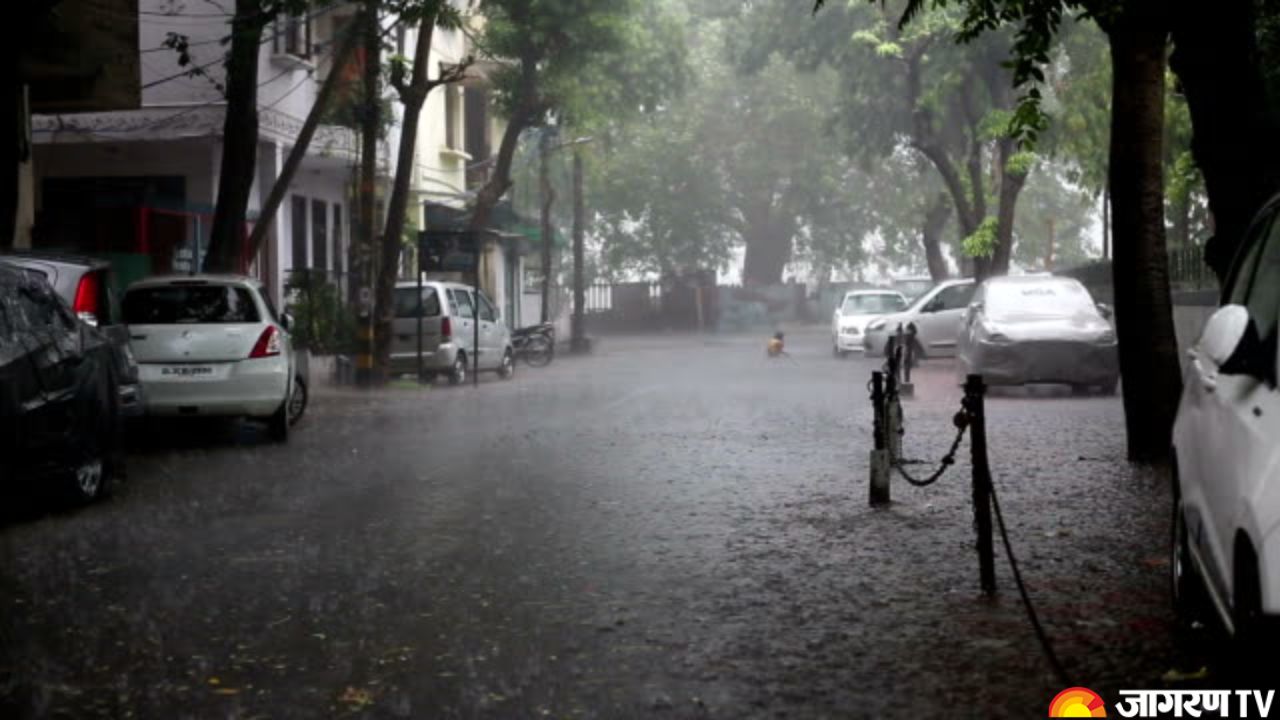
[(401, 124), (399, 152), (396, 156), (396, 179), (392, 196), (387, 201), (387, 225), (383, 228), (381, 252), (378, 261), (378, 282), (375, 283), (374, 307), (378, 315), (374, 322), (374, 375), (379, 382), (390, 377), (392, 363), (392, 323), (396, 320), (396, 281), (399, 279), (399, 264), (403, 246), (404, 219), (408, 214), (410, 184), (417, 149), (417, 126), (422, 117), (422, 104), (431, 92), (429, 70), (431, 65), (431, 37), (435, 32), (435, 15), (428, 14), (417, 27), (417, 46), (413, 49), (413, 76), (404, 85), (393, 76), (404, 105), (404, 120)]

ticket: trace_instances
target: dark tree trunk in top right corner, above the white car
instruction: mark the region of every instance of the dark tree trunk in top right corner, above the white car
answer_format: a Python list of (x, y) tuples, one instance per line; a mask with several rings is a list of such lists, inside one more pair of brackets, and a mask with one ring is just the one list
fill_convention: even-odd
[(1248, 0), (1169, 4), (1178, 74), (1192, 117), (1192, 155), (1204, 176), (1215, 233), (1206, 261), (1225, 279), (1253, 215), (1277, 190), (1280, 119), (1268, 111)]

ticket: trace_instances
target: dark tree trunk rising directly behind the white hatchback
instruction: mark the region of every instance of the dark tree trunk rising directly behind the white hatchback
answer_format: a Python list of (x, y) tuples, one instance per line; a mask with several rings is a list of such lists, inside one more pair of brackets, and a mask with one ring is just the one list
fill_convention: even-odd
[(211, 273), (239, 272), (243, 260), (244, 217), (257, 172), (257, 55), (262, 28), (269, 22), (269, 18), (264, 20), (262, 13), (259, 0), (236, 0), (227, 59), (227, 118), (223, 122), (218, 204), (202, 266)]

